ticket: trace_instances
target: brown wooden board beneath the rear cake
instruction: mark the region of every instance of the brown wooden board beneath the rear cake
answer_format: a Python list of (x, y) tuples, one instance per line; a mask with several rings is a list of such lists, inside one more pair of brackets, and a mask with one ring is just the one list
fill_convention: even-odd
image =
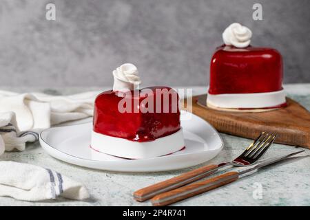
[(287, 107), (263, 112), (220, 111), (198, 104), (206, 98), (193, 97), (193, 113), (220, 132), (254, 139), (262, 131), (271, 131), (278, 133), (276, 143), (310, 148), (310, 113), (290, 98)]

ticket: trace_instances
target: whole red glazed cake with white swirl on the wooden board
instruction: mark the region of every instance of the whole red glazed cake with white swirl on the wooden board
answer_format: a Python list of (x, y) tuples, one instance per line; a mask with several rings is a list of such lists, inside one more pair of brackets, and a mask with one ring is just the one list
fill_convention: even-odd
[(211, 58), (207, 105), (240, 110), (284, 107), (281, 54), (249, 45), (251, 31), (238, 23), (229, 25), (223, 39), (225, 45)]

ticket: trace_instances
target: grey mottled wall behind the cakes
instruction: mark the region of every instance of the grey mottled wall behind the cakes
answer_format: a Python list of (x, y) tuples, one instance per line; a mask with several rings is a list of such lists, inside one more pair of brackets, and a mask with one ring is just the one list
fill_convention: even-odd
[[(56, 4), (56, 21), (45, 19)], [(251, 18), (262, 3), (263, 21)], [(309, 0), (1, 0), (0, 86), (110, 86), (130, 62), (145, 85), (206, 85), (209, 60), (231, 22), (275, 47), (285, 83), (310, 82)]]

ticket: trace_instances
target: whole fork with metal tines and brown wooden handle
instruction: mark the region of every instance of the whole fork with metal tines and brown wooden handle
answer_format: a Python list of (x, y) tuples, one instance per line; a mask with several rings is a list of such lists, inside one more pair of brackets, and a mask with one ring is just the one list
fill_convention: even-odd
[(198, 179), (203, 179), (216, 171), (219, 168), (223, 168), (225, 166), (250, 166), (262, 157), (269, 146), (276, 139), (276, 133), (270, 133), (263, 131), (260, 135), (251, 143), (245, 151), (236, 157), (232, 162), (223, 162), (221, 164), (211, 164), (207, 166), (203, 166), (197, 168), (195, 170), (191, 170), (183, 175), (178, 175), (171, 179), (167, 179), (165, 181), (161, 181), (157, 184), (147, 186), (140, 190), (134, 192), (134, 199), (136, 201), (145, 201), (147, 199), (151, 199), (155, 195), (161, 194), (163, 192), (167, 192), (169, 190), (173, 190), (175, 188), (179, 188), (180, 186), (185, 186), (186, 184), (192, 183)]

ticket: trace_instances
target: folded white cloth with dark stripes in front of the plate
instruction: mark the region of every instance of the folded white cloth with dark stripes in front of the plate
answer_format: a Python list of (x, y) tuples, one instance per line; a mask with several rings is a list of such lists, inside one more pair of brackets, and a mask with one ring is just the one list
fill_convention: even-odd
[(48, 168), (0, 161), (0, 196), (25, 201), (64, 197), (83, 200), (90, 197), (82, 184)]

